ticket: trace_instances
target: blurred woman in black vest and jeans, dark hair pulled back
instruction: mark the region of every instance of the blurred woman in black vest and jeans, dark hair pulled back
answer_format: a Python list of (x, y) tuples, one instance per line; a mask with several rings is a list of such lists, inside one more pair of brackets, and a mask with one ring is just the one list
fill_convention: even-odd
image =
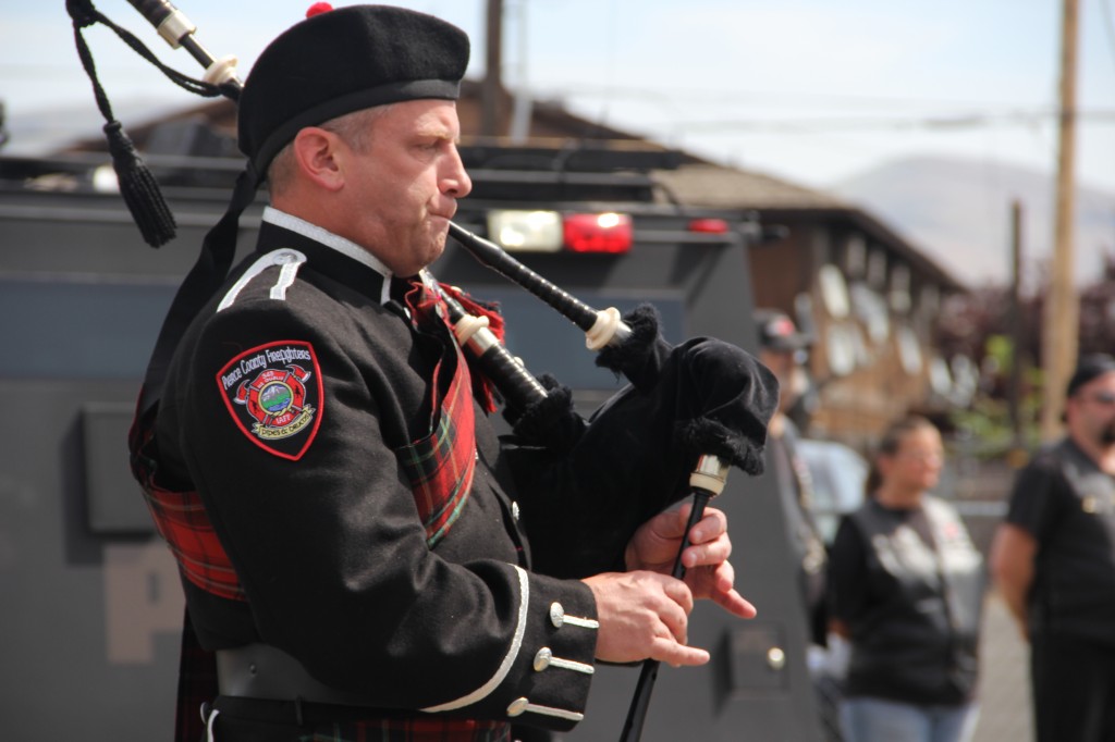
[(852, 646), (846, 742), (964, 742), (976, 728), (982, 558), (952, 506), (929, 494), (941, 435), (909, 417), (880, 441), (864, 505), (830, 554), (830, 629)]

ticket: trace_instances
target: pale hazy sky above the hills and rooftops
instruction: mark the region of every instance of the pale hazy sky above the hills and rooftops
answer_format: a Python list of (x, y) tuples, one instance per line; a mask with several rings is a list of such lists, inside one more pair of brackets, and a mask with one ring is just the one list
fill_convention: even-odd
[[(176, 3), (195, 39), (215, 57), (236, 56), (242, 76), (309, 4)], [(468, 75), (483, 76), (485, 0), (396, 4), (467, 31)], [(9, 119), (75, 106), (96, 116), (64, 0), (0, 6)], [(200, 76), (125, 0), (95, 7), (164, 62)], [(1077, 182), (1115, 194), (1115, 0), (1079, 7)], [(927, 155), (1056, 172), (1054, 0), (504, 0), (504, 9), (506, 85), (715, 162), (817, 188)], [(200, 101), (106, 28), (86, 38), (125, 128)], [(59, 116), (56, 126), (65, 133), (77, 120)]]

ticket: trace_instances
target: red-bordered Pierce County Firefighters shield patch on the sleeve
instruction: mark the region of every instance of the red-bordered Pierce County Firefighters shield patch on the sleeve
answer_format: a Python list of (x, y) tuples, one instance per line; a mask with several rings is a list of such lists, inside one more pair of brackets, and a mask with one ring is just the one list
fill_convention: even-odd
[(275, 456), (302, 458), (321, 424), (321, 370), (308, 342), (244, 351), (216, 374), (224, 404), (248, 438)]

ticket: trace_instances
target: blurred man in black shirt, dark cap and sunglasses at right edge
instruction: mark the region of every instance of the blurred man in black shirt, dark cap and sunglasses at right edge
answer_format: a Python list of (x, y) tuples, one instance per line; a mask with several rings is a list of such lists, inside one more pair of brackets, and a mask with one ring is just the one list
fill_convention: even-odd
[(1015, 481), (991, 547), (1030, 642), (1038, 742), (1115, 740), (1115, 358), (1082, 359), (1067, 435)]

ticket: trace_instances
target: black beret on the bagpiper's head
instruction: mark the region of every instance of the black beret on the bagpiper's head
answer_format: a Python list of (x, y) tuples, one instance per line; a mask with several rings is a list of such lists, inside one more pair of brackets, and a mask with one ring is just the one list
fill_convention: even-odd
[(426, 13), (350, 6), (318, 13), (272, 41), (244, 81), (239, 144), (262, 179), (299, 129), (401, 100), (456, 100), (468, 37)]

